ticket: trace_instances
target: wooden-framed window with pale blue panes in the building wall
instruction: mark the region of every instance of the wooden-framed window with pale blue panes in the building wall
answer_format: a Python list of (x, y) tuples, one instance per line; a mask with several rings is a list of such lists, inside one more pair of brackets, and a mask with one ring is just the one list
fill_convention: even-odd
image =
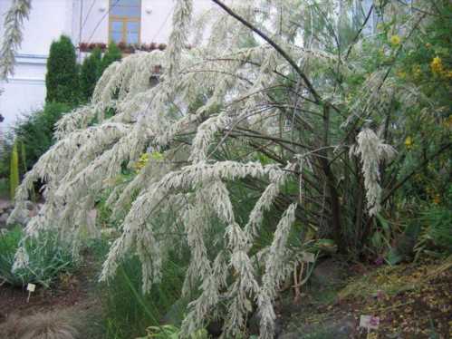
[(110, 40), (139, 44), (141, 0), (110, 0)]

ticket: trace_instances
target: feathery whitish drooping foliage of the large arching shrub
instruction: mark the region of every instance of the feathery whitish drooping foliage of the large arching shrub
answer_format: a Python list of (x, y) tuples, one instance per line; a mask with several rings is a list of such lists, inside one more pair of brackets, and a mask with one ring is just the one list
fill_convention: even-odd
[[(361, 61), (345, 63), (322, 51), (322, 45), (313, 48), (303, 30), (290, 24), (300, 22), (303, 28), (306, 2), (268, 1), (259, 7), (262, 13), (255, 11), (256, 3), (239, 1), (233, 8), (274, 38), (302, 71), (315, 78), (325, 102), (341, 107), (346, 92), (328, 74), (336, 69), (343, 74), (361, 71)], [(57, 141), (17, 189), (9, 221), (24, 217), (29, 190), (41, 180), (45, 204), (29, 221), (27, 234), (54, 228), (75, 242), (87, 222), (86, 211), (94, 208), (101, 193), (111, 192), (107, 201), (112, 218), (120, 222), (120, 236), (102, 266), (101, 280), (114, 275), (120, 260), (132, 252), (141, 261), (142, 287), (148, 292), (161, 279), (168, 248), (188, 248), (183, 293), (197, 297), (189, 304), (183, 333), (192, 334), (221, 315), (224, 337), (238, 336), (257, 303), (261, 337), (271, 338), (274, 297), (292, 269), (287, 265), (287, 257), (293, 254), (287, 241), (294, 219), (306, 218), (311, 224), (319, 214), (325, 219), (331, 215), (331, 206), (324, 206), (327, 194), (319, 189), (325, 176), (317, 167), (325, 157), (319, 151), (322, 133), (316, 131), (324, 123), (318, 118), (323, 111), (280, 53), (217, 7), (197, 23), (200, 29), (211, 24), (208, 38), (186, 48), (192, 7), (191, 0), (178, 0), (166, 52), (136, 53), (112, 63), (91, 102), (58, 121)], [(25, 9), (27, 13), (29, 7)], [(12, 22), (16, 28), (21, 17)], [(15, 41), (20, 42), (17, 37)], [(149, 77), (160, 66), (159, 83), (151, 88)], [(390, 79), (381, 84), (381, 74), (372, 74), (364, 83), (363, 95), (351, 104), (350, 119), (338, 114), (331, 123), (350, 126), (351, 119), (367, 117), (387, 102), (395, 87)], [(413, 89), (398, 90), (409, 92), (407, 100), (414, 96)], [(106, 117), (107, 110), (114, 115)], [(334, 142), (325, 149), (344, 147)], [(120, 180), (124, 169), (136, 171), (134, 165), (143, 153), (149, 155), (146, 165), (133, 179)], [(357, 146), (351, 149), (361, 158), (371, 215), (380, 209), (380, 163), (392, 153), (368, 129), (361, 131)], [(157, 155), (155, 159), (152, 154)], [(310, 166), (299, 166), (301, 158)], [(347, 160), (338, 159), (332, 170)], [(303, 185), (309, 183), (315, 195), (322, 196), (323, 203), (300, 199), (302, 179)], [(247, 210), (245, 222), (235, 214), (234, 185), (252, 188), (255, 205)], [(300, 202), (300, 210), (309, 209), (306, 214), (295, 216), (295, 201)], [(287, 209), (275, 222), (272, 244), (255, 248), (265, 212), (271, 208)], [(18, 252), (17, 263), (24, 261), (23, 251)], [(262, 281), (258, 261), (264, 261)]]

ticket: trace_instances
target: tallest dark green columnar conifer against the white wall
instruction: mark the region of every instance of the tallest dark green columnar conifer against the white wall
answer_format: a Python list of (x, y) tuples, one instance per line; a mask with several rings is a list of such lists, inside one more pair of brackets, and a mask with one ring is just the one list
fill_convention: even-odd
[(80, 101), (79, 73), (75, 47), (65, 35), (54, 41), (47, 59), (46, 102), (75, 105)]

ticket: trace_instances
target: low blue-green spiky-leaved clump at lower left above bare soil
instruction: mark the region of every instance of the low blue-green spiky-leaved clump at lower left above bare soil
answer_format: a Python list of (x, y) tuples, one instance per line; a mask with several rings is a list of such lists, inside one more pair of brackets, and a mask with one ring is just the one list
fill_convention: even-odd
[(15, 227), (0, 236), (0, 279), (12, 286), (28, 283), (49, 287), (61, 273), (69, 272), (75, 262), (67, 244), (52, 232), (43, 232), (36, 238), (24, 240), (28, 262), (12, 272), (14, 256), (24, 236), (22, 228)]

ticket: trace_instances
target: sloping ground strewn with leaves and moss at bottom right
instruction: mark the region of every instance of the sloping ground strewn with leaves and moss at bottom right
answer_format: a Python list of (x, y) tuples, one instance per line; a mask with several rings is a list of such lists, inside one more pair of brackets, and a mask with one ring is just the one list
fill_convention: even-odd
[[(452, 259), (384, 266), (342, 286), (311, 288), (298, 306), (290, 297), (284, 304), (284, 339), (450, 338)], [(361, 315), (378, 316), (379, 329), (368, 336), (359, 328)]]

